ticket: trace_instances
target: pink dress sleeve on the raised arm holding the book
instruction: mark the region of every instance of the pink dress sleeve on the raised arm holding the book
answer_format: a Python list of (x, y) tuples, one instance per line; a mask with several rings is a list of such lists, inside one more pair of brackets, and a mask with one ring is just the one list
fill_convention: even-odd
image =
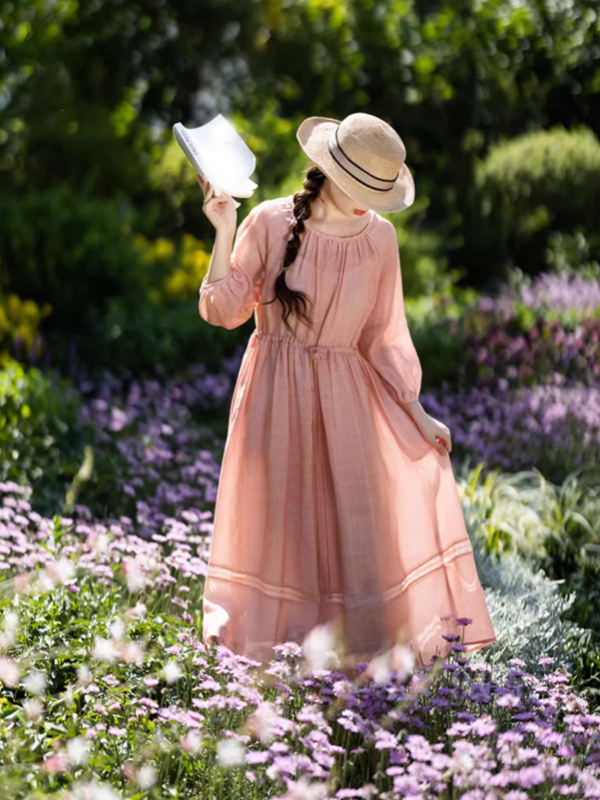
[(237, 328), (250, 319), (260, 300), (267, 262), (264, 203), (259, 203), (238, 226), (229, 274), (212, 283), (207, 275), (199, 289), (202, 319), (222, 328)]

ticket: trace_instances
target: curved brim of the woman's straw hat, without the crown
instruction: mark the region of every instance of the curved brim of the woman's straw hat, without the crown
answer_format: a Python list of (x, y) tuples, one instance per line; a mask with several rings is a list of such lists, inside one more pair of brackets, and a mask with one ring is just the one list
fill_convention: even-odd
[(335, 161), (327, 147), (327, 140), (340, 122), (341, 120), (330, 117), (307, 117), (300, 124), (296, 138), (308, 158), (343, 192), (373, 211), (385, 214), (404, 211), (411, 206), (415, 200), (415, 183), (406, 164), (400, 168), (392, 188), (381, 192), (363, 186)]

